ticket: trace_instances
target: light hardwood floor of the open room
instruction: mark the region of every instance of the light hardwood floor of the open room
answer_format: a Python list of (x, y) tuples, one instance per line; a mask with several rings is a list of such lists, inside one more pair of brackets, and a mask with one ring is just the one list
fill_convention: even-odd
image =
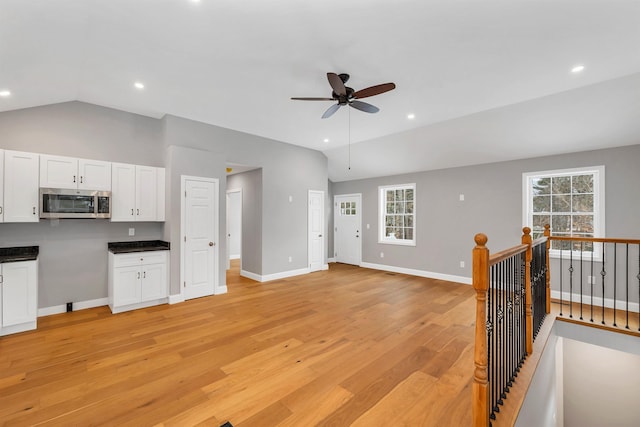
[(2, 425), (466, 426), (471, 286), (343, 264), (0, 337)]

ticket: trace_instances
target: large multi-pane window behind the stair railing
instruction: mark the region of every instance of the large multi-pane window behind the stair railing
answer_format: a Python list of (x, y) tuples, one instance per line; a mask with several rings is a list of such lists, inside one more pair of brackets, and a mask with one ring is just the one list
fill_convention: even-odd
[[(524, 223), (533, 239), (541, 237), (545, 224), (552, 236), (604, 236), (604, 166), (523, 174)], [(593, 251), (579, 242), (552, 241), (558, 250)]]

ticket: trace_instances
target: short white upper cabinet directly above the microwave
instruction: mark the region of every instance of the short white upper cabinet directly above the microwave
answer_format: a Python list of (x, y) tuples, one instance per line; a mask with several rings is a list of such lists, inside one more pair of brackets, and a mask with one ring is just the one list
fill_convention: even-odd
[(109, 191), (111, 163), (43, 154), (40, 187)]

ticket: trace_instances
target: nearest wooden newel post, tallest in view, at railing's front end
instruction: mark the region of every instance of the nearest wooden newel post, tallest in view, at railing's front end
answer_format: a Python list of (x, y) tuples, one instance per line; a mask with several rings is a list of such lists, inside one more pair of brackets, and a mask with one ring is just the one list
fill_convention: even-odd
[(487, 350), (487, 289), (489, 289), (489, 249), (487, 236), (476, 234), (473, 248), (473, 288), (476, 290), (476, 336), (473, 361), (472, 414), (475, 427), (489, 425), (489, 355)]

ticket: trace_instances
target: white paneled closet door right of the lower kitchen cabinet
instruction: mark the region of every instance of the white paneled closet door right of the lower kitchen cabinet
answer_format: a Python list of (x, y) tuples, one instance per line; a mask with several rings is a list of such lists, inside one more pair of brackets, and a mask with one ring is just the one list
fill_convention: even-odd
[(185, 299), (213, 295), (218, 282), (218, 180), (182, 177)]

